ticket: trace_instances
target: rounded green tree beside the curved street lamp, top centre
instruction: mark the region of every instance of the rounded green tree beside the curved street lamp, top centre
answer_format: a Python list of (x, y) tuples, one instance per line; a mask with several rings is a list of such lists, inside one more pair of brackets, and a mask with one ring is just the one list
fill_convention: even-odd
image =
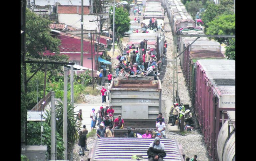
[[(110, 11), (113, 11), (113, 7), (110, 8)], [(111, 23), (111, 29), (113, 30), (113, 16), (110, 15), (110, 23)], [(115, 8), (115, 32), (124, 35), (126, 31), (129, 31), (130, 29), (130, 18), (129, 13), (127, 10), (124, 10), (124, 8), (116, 7)]]

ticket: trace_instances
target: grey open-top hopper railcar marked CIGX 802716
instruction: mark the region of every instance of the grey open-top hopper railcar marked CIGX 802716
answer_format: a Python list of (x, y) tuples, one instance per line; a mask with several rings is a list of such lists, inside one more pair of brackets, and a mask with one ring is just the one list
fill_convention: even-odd
[(161, 112), (162, 87), (153, 76), (132, 76), (129, 80), (119, 76), (110, 85), (109, 102), (115, 110), (114, 118), (120, 114), (125, 127), (155, 128)]

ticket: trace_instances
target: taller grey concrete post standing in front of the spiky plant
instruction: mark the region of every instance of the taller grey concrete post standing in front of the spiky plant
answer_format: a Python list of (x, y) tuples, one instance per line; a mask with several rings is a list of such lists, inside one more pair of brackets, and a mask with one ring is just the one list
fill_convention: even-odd
[(67, 68), (64, 68), (64, 109), (63, 109), (63, 141), (64, 159), (67, 160)]

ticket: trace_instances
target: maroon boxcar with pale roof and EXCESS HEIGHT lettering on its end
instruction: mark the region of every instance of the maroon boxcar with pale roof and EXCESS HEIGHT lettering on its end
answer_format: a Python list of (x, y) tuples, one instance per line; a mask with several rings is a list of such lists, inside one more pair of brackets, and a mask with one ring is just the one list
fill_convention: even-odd
[(222, 111), (235, 111), (234, 60), (197, 60), (194, 110), (209, 155), (215, 160)]

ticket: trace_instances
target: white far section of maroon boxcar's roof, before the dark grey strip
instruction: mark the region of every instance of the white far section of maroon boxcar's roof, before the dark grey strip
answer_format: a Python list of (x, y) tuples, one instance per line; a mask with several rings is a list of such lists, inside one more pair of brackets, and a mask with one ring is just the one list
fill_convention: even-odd
[(204, 71), (235, 71), (235, 60), (200, 59), (197, 62)]

